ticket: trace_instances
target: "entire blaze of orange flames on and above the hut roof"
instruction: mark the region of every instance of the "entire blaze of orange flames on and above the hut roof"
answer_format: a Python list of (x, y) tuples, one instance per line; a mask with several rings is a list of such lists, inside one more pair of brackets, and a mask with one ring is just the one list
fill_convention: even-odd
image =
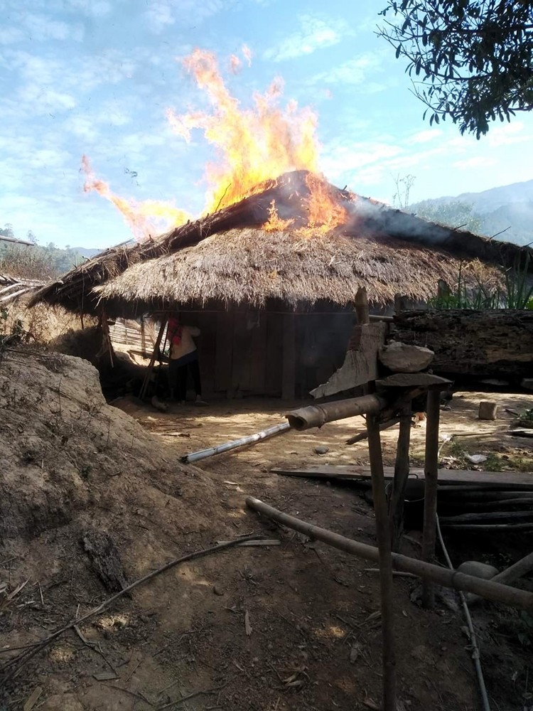
[[(252, 52), (242, 46), (242, 56), (250, 65)], [(299, 108), (296, 101), (281, 107), (284, 81), (276, 77), (263, 94), (254, 93), (252, 108), (243, 109), (230, 94), (220, 74), (215, 55), (195, 49), (183, 60), (188, 73), (193, 75), (200, 90), (204, 90), (212, 105), (211, 112), (176, 114), (167, 109), (166, 116), (173, 132), (190, 141), (193, 129), (201, 129), (205, 138), (216, 146), (218, 160), (206, 166), (205, 178), (208, 195), (205, 213), (211, 213), (239, 201), (261, 189), (262, 183), (277, 178), (283, 173), (306, 170), (316, 173), (318, 167), (318, 141), (316, 139), (316, 114), (311, 109)], [(237, 55), (230, 57), (230, 69), (237, 73), (242, 60)], [(97, 191), (111, 201), (124, 215), (137, 239), (157, 234), (158, 226), (166, 223), (180, 225), (189, 215), (169, 203), (159, 201), (136, 202), (112, 193), (107, 183), (98, 180), (83, 159), (87, 174), (85, 191)], [(348, 220), (348, 213), (338, 198), (328, 190), (327, 183), (316, 175), (307, 178), (310, 191), (303, 198), (302, 212), (308, 215), (309, 230), (327, 231)], [(296, 223), (301, 219), (295, 215)], [(301, 215), (300, 217), (303, 217)], [(281, 220), (276, 205), (271, 203), (267, 230), (295, 228), (294, 220)], [(298, 230), (298, 231), (300, 231)]]

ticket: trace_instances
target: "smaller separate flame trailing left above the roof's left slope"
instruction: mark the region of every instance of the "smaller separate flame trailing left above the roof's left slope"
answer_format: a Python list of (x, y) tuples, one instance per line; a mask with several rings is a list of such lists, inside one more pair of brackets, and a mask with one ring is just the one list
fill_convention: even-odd
[(190, 218), (190, 215), (183, 210), (178, 210), (170, 203), (157, 200), (146, 200), (139, 203), (115, 195), (107, 183), (95, 176), (87, 156), (82, 156), (82, 170), (85, 173), (83, 191), (85, 193), (95, 191), (113, 203), (122, 213), (136, 240), (154, 237), (161, 232), (162, 226), (164, 229), (169, 223), (182, 225)]

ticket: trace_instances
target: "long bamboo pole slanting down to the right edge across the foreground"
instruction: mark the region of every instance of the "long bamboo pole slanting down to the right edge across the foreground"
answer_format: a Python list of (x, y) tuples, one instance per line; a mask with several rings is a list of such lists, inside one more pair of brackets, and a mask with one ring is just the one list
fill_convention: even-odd
[[(258, 513), (262, 513), (287, 528), (297, 530), (309, 538), (321, 540), (334, 548), (338, 548), (338, 550), (357, 555), (365, 560), (379, 562), (379, 551), (373, 545), (367, 545), (367, 543), (345, 538), (345, 536), (333, 533), (333, 531), (320, 528), (299, 518), (294, 518), (294, 516), (282, 513), (278, 509), (269, 506), (253, 496), (247, 496), (246, 503), (249, 508), (252, 508)], [(500, 602), (511, 607), (533, 611), (533, 594), (515, 587), (452, 571), (439, 565), (432, 565), (423, 560), (416, 560), (407, 555), (401, 555), (400, 553), (392, 553), (392, 566), (394, 570), (403, 570), (404, 572), (413, 573), (423, 580), (431, 580), (431, 582), (435, 582), (438, 585), (448, 587), (452, 590), (473, 592), (492, 602)]]

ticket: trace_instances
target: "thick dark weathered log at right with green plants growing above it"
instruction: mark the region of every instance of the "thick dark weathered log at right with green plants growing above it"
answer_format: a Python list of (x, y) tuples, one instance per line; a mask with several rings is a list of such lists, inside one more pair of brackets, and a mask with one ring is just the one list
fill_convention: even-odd
[(398, 341), (431, 348), (434, 373), (519, 381), (533, 371), (533, 311), (402, 311), (393, 332)]

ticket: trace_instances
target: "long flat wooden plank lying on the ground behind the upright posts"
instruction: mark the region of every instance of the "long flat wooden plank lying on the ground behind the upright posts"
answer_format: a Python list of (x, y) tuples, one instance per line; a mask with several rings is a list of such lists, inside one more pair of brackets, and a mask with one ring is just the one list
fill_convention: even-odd
[[(283, 476), (301, 476), (308, 479), (339, 479), (341, 481), (370, 481), (369, 466), (348, 466), (326, 464), (308, 466), (301, 469), (272, 469)], [(385, 479), (394, 478), (394, 467), (384, 467)], [(410, 479), (424, 479), (424, 469), (412, 467)], [(501, 485), (506, 488), (521, 488), (533, 491), (533, 472), (529, 471), (464, 471), (460, 469), (439, 469), (439, 483)]]

